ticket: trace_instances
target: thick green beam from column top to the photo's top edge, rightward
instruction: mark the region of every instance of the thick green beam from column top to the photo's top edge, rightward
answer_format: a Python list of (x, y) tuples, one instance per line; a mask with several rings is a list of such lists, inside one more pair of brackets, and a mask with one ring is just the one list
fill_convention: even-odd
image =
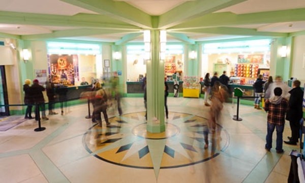
[(160, 16), (159, 28), (165, 29), (191, 18), (206, 15), (246, 0), (200, 0), (186, 2)]

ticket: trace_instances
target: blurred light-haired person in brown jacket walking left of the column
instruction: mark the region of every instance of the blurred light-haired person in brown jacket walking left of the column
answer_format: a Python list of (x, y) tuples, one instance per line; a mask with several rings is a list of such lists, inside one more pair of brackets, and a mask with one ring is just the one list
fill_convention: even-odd
[(99, 126), (102, 127), (102, 116), (101, 112), (104, 115), (106, 125), (109, 126), (109, 120), (108, 120), (108, 115), (107, 115), (107, 101), (108, 101), (108, 96), (107, 92), (105, 89), (102, 87), (97, 90), (96, 95), (95, 95), (95, 107), (94, 107), (94, 114), (95, 114), (95, 119), (98, 121)]

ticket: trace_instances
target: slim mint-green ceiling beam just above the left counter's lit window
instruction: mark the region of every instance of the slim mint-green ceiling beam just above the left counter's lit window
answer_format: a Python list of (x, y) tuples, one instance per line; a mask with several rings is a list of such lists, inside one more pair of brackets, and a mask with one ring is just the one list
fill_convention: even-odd
[(131, 33), (131, 31), (100, 29), (100, 28), (79, 28), (69, 29), (63, 31), (54, 31), (50, 34), (37, 34), (21, 36), (23, 40), (37, 40), (37, 39), (51, 39), (51, 38), (69, 38), (69, 37), (83, 37), (93, 35), (105, 35), (115, 33)]

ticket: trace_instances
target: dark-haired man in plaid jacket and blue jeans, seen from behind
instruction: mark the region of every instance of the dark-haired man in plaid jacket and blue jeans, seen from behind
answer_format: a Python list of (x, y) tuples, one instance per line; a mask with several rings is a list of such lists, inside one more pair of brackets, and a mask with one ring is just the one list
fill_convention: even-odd
[(284, 153), (283, 150), (283, 131), (285, 126), (285, 113), (288, 109), (288, 101), (282, 97), (282, 89), (275, 88), (275, 96), (265, 103), (265, 111), (268, 112), (267, 136), (265, 149), (270, 151), (272, 148), (272, 134), (277, 129), (277, 153)]

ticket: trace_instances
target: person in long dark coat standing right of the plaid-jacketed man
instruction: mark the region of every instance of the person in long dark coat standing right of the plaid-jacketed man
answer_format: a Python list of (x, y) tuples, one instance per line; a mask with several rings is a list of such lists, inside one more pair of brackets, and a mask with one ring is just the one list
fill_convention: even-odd
[(291, 137), (289, 141), (284, 141), (286, 144), (296, 145), (299, 138), (300, 120), (303, 116), (302, 102), (304, 92), (300, 88), (301, 82), (299, 80), (293, 81), (293, 88), (290, 90), (289, 109), (287, 111), (286, 119), (289, 120), (291, 128)]

